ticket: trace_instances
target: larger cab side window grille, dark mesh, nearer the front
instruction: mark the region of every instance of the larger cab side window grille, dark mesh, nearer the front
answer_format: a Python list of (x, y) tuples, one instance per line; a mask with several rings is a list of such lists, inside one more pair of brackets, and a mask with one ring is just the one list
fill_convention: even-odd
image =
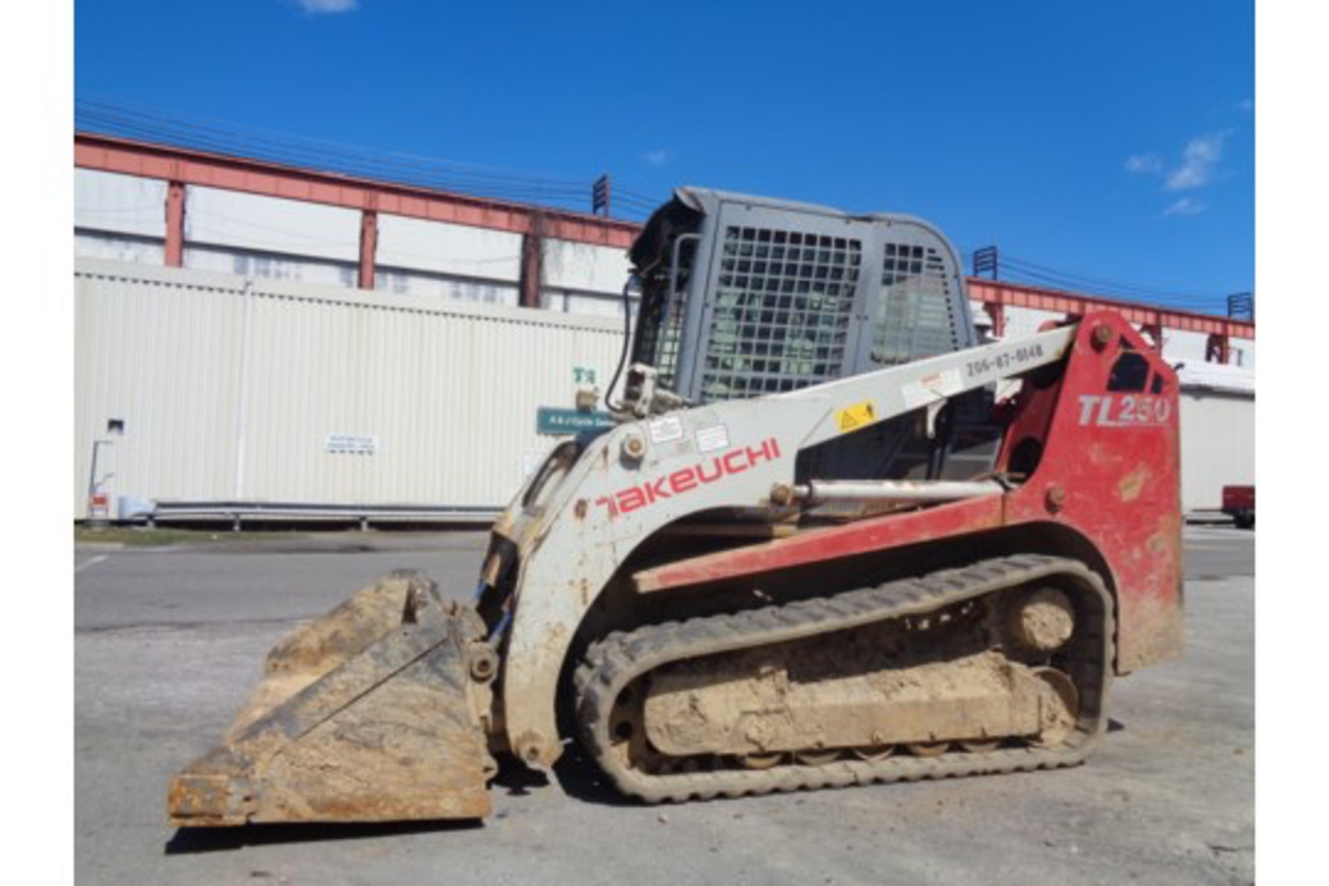
[(796, 391), (839, 377), (861, 240), (730, 226), (720, 248), (704, 399)]

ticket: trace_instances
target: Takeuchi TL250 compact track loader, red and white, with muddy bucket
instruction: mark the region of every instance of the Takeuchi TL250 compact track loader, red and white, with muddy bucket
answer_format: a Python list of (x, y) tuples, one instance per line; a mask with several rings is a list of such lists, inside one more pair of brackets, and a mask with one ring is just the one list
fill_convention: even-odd
[(926, 223), (696, 189), (631, 260), (617, 421), (473, 602), (395, 573), (288, 636), (174, 824), (480, 818), (569, 741), (647, 802), (1067, 766), (1180, 652), (1177, 380), (1123, 317), (982, 343)]

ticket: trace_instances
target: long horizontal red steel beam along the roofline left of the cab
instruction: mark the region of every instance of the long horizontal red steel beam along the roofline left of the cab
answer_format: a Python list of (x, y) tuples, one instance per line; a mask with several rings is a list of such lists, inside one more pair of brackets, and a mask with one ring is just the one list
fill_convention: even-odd
[[(530, 230), (536, 211), (521, 203), (92, 133), (74, 133), (74, 166), (361, 211), (376, 209), (392, 215), (514, 234)], [(631, 222), (582, 213), (549, 209), (540, 211), (545, 215), (544, 234), (561, 240), (627, 248), (641, 230), (641, 226)]]

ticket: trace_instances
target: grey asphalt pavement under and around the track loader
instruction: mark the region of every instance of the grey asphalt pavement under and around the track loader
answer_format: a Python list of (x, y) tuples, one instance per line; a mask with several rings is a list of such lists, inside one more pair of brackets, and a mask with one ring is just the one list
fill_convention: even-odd
[(177, 832), (170, 776), (263, 655), (375, 576), (470, 592), (484, 537), (338, 534), (74, 554), (76, 870), (101, 883), (1248, 883), (1255, 534), (1187, 529), (1187, 651), (1118, 680), (1087, 765), (679, 806), (506, 772), (484, 825)]

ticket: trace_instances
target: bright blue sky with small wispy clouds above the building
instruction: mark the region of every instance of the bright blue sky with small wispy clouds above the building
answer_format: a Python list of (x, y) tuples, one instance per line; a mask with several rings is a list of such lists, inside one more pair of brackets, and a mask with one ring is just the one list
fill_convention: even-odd
[[(80, 98), (664, 198), (902, 211), (1216, 308), (1255, 280), (1251, 1), (80, 0)], [(1187, 296), (1204, 296), (1195, 300)]]

